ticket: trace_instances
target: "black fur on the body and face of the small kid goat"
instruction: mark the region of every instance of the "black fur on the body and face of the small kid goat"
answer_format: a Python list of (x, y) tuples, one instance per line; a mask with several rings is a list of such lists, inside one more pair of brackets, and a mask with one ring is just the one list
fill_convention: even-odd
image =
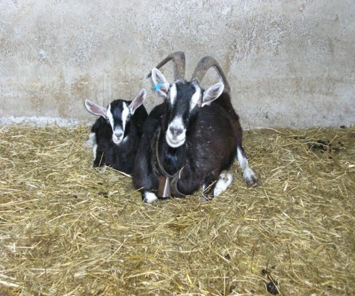
[[(114, 126), (122, 126), (121, 114), (123, 102), (126, 102), (127, 105), (131, 103), (131, 101), (125, 100), (115, 100), (111, 103)], [(107, 165), (115, 170), (132, 174), (134, 159), (142, 137), (143, 124), (147, 117), (146, 108), (143, 105), (138, 107), (135, 113), (127, 118), (124, 139), (119, 144), (115, 144), (112, 141), (113, 132), (110, 123), (104, 117), (100, 116), (91, 128), (91, 132), (96, 134), (97, 144), (93, 167)]]

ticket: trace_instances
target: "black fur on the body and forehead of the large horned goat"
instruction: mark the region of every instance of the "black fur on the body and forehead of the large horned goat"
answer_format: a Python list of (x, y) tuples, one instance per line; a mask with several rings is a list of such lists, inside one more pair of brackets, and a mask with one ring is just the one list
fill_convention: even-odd
[[(175, 174), (184, 167), (178, 180), (178, 190), (186, 195), (200, 189), (203, 184), (209, 186), (216, 181), (219, 173), (233, 163), (237, 143), (241, 143), (239, 118), (227, 93), (222, 93), (209, 106), (195, 106), (192, 112), (188, 112), (195, 87), (192, 82), (186, 81), (176, 84), (174, 106), (171, 106), (169, 98), (165, 99), (164, 103), (152, 110), (143, 129), (133, 173), (135, 187), (143, 188), (143, 199), (147, 191), (158, 189), (160, 174), (155, 147), (159, 130), (160, 161), (169, 174)], [(172, 148), (166, 142), (166, 130), (177, 113), (182, 114), (186, 140), (178, 148)]]

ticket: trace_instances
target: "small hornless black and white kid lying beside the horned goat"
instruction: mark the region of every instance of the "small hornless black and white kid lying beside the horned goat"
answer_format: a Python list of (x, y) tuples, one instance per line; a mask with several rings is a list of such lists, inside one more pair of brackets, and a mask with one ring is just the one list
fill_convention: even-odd
[(88, 140), (93, 147), (93, 167), (107, 165), (132, 174), (143, 124), (148, 117), (142, 105), (146, 96), (146, 90), (142, 89), (132, 101), (114, 100), (107, 108), (85, 101), (86, 109), (100, 116)]

